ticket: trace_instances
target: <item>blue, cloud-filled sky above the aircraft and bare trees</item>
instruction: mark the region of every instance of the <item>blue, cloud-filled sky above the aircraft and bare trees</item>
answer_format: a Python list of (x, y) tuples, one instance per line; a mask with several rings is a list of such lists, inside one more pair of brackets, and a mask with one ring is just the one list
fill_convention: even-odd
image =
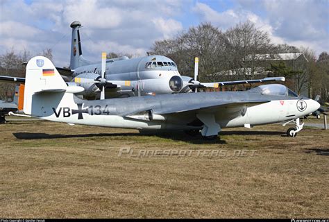
[(210, 22), (221, 31), (250, 21), (275, 44), (329, 52), (329, 0), (0, 0), (0, 55), (52, 49), (69, 65), (71, 22), (80, 21), (83, 56), (144, 56), (155, 40)]

